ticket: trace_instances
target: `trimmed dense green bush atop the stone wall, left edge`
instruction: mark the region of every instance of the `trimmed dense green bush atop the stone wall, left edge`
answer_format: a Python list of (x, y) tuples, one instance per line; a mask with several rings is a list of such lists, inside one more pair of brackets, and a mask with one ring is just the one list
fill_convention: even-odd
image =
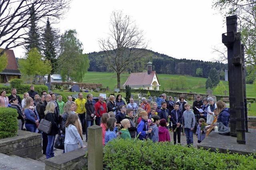
[(0, 107), (0, 139), (14, 137), (18, 131), (18, 113), (10, 107)]

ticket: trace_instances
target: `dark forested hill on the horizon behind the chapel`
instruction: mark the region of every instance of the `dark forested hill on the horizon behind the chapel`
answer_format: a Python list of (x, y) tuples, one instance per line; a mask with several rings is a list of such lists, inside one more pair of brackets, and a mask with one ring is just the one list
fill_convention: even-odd
[[(156, 70), (158, 74), (182, 74), (198, 76), (196, 74), (197, 68), (201, 68), (201, 77), (207, 78), (211, 68), (216, 68), (220, 73), (220, 78), (224, 76), (224, 69), (227, 69), (228, 65), (219, 62), (206, 62), (199, 60), (188, 59), (175, 59), (168, 55), (160, 54), (151, 50), (145, 50), (146, 57), (140, 59), (138, 63), (134, 64), (128, 72), (142, 72), (146, 70), (146, 65), (149, 61), (153, 63), (153, 70)], [(108, 68), (107, 63), (104, 62), (104, 51), (89, 53), (90, 68), (88, 71), (99, 72), (111, 72), (111, 68)]]

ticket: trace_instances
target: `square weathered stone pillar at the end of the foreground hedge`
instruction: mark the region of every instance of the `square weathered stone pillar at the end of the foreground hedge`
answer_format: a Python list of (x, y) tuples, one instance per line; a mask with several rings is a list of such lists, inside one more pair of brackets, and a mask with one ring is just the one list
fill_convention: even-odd
[(102, 127), (88, 127), (88, 170), (103, 169)]

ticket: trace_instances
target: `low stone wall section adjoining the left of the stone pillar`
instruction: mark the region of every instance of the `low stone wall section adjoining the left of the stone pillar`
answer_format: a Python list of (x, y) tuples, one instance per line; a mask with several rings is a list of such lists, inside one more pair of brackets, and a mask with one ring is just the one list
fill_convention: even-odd
[(87, 169), (87, 158), (85, 154), (87, 148), (80, 148), (54, 156), (45, 160), (46, 170), (84, 170)]

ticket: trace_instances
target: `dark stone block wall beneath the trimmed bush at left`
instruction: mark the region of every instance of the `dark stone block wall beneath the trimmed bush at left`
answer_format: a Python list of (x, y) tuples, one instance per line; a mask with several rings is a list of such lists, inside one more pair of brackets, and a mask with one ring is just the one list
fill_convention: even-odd
[(18, 130), (16, 137), (0, 139), (0, 153), (37, 159), (42, 156), (42, 135)]

